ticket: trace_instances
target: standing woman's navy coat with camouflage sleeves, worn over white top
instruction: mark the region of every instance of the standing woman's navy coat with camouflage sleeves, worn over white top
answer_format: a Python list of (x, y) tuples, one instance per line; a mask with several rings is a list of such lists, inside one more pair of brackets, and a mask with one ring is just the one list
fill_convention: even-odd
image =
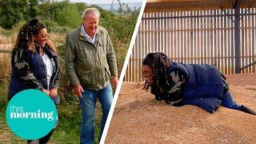
[[(46, 89), (48, 90), (46, 78), (46, 66), (39, 54), (39, 46), (36, 44), (36, 51), (14, 49), (11, 58), (11, 78), (8, 99), (14, 97), (15, 94), (27, 89)], [(58, 57), (52, 50), (45, 47), (45, 54), (50, 58), (54, 73), (50, 79), (50, 89), (58, 87), (59, 66)]]

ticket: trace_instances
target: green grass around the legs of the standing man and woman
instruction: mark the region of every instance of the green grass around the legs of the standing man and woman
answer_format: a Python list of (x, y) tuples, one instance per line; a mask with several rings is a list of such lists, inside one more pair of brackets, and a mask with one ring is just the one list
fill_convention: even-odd
[[(1, 81), (0, 81), (1, 82)], [(7, 105), (8, 82), (0, 83), (0, 139), (3, 143), (26, 143), (26, 140), (13, 134), (6, 123), (5, 113)], [(98, 143), (99, 123), (101, 119), (101, 107), (97, 102), (95, 112), (95, 139)], [(58, 126), (50, 138), (49, 143), (79, 143), (80, 123), (82, 114), (78, 100), (62, 103), (58, 106)]]

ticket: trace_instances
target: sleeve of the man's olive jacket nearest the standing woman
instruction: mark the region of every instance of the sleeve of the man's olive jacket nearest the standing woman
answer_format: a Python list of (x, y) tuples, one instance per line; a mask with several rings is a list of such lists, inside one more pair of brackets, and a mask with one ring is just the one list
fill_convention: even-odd
[(65, 69), (67, 77), (70, 79), (71, 86), (75, 86), (80, 83), (77, 74), (75, 73), (75, 51), (72, 39), (68, 35), (66, 37), (66, 51), (65, 51)]

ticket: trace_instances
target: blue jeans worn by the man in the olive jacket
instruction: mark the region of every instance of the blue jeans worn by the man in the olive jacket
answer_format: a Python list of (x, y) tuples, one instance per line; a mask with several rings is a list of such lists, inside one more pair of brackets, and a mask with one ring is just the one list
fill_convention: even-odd
[(97, 98), (102, 104), (102, 122), (99, 138), (102, 136), (107, 115), (110, 111), (111, 102), (113, 100), (112, 87), (108, 84), (102, 90), (84, 89), (82, 98), (79, 98), (82, 108), (82, 123), (80, 131), (80, 143), (87, 144), (94, 142), (94, 112)]

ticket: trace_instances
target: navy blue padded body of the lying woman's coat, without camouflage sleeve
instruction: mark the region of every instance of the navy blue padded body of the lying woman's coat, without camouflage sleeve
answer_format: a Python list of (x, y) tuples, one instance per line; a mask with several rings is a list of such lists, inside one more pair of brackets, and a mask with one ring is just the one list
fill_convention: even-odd
[(210, 113), (222, 104), (224, 83), (215, 66), (170, 62), (167, 73), (174, 70), (186, 78), (182, 87), (183, 104), (199, 106)]

